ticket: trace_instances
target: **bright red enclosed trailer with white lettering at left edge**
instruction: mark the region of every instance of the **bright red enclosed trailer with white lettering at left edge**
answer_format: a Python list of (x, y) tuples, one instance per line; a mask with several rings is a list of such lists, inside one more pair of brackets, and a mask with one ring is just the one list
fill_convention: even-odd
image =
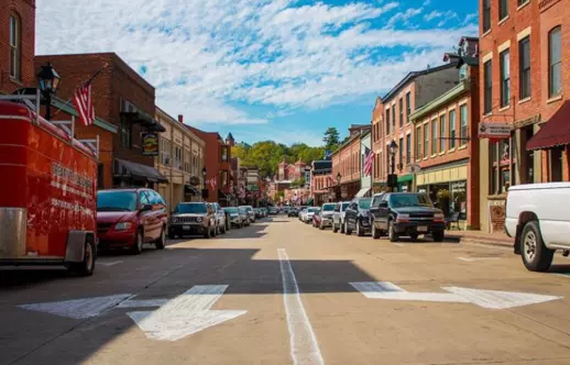
[(73, 125), (66, 131), (40, 118), (29, 101), (39, 97), (8, 98), (0, 97), (0, 265), (64, 265), (91, 275), (98, 146), (75, 140)]

